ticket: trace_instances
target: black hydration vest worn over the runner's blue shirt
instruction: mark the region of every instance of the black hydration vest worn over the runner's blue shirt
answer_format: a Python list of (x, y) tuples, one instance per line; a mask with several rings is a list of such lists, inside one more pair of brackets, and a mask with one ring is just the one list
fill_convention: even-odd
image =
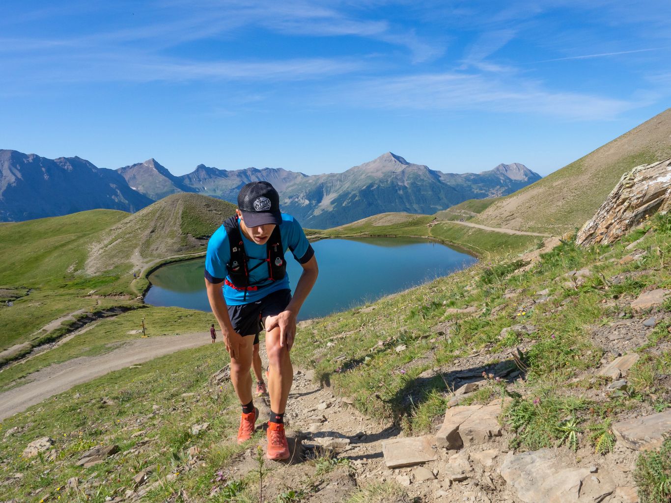
[[(228, 264), (226, 264), (228, 277), (231, 280), (226, 279), (225, 284), (236, 290), (244, 290), (244, 299), (246, 299), (248, 290), (258, 290), (259, 284), (268, 280), (278, 281), (284, 279), (285, 274), (287, 274), (287, 262), (285, 261), (285, 252), (282, 249), (282, 235), (280, 234), (279, 225), (275, 225), (272, 234), (270, 234), (268, 241), (266, 241), (267, 258), (261, 260), (261, 262), (251, 269), (248, 267), (249, 257), (245, 253), (242, 233), (240, 233), (240, 227), (238, 227), (237, 215), (225, 219), (223, 227), (226, 229), (231, 252), (231, 258)], [(254, 258), (254, 260), (260, 259)], [(268, 267), (268, 278), (266, 280), (250, 282), (250, 272), (264, 264)]]

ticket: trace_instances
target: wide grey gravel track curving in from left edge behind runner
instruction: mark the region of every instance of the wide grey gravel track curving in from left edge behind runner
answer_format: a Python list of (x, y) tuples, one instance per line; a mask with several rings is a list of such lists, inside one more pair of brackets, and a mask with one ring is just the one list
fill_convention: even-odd
[(206, 332), (148, 337), (125, 343), (104, 355), (83, 356), (48, 366), (30, 374), (28, 384), (0, 393), (0, 420), (113, 370), (209, 343), (211, 339)]

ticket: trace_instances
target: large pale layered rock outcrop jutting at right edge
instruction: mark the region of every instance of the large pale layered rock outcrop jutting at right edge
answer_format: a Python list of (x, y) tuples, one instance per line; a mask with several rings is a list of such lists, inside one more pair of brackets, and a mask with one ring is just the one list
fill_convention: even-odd
[(578, 245), (609, 244), (653, 213), (671, 210), (671, 159), (625, 173), (576, 237)]

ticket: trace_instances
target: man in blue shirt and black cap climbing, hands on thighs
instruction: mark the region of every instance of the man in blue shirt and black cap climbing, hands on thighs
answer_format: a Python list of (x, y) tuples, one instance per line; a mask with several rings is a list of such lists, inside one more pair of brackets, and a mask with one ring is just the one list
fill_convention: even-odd
[[(285, 261), (287, 250), (291, 250), (303, 268), (293, 296)], [(236, 215), (224, 221), (207, 244), (205, 286), (231, 355), (231, 381), (242, 404), (238, 443), (252, 437), (258, 418), (250, 368), (255, 335), (266, 330), (270, 395), (268, 459), (289, 458), (284, 425), (293, 382), (289, 351), (296, 335), (299, 310), (317, 274), (315, 252), (303, 227), (291, 215), (280, 213), (280, 197), (273, 186), (268, 182), (252, 182), (242, 187)]]

